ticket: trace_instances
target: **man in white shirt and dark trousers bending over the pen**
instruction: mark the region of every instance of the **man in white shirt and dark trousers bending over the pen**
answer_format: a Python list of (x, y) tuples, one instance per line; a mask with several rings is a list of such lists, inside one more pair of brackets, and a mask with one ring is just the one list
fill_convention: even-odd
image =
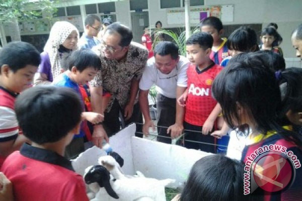
[[(190, 61), (178, 55), (178, 47), (172, 42), (159, 42), (154, 49), (154, 57), (147, 61), (147, 67), (140, 80), (139, 102), (145, 124), (143, 133), (148, 135), (153, 121), (149, 115), (148, 93), (153, 84), (156, 85), (157, 95), (157, 132), (160, 136), (178, 137), (183, 127), (184, 107), (176, 100), (187, 88), (187, 69)], [(171, 139), (158, 137), (157, 141), (171, 143)]]

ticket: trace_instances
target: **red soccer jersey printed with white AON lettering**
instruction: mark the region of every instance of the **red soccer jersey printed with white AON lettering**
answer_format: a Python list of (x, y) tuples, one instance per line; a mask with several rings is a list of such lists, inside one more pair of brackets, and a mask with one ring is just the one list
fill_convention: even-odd
[(217, 101), (212, 97), (211, 87), (222, 67), (211, 64), (205, 71), (199, 71), (196, 65), (188, 68), (188, 98), (186, 100), (185, 121), (203, 126), (214, 109)]

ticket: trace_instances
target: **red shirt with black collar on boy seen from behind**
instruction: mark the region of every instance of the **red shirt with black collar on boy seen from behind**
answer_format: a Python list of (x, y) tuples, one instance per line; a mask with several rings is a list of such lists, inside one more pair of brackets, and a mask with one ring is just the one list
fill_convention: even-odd
[[(25, 152), (24, 146), (27, 149)], [(1, 171), (13, 184), (14, 200), (88, 201), (83, 178), (72, 171), (71, 163), (54, 152), (45, 154), (50, 151), (37, 152), (37, 149), (40, 150), (24, 144), (20, 151), (9, 155), (2, 165)]]

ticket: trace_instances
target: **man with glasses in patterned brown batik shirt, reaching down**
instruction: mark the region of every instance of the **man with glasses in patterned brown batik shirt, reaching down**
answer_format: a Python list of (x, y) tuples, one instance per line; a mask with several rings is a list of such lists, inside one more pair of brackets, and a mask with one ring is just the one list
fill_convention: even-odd
[[(102, 146), (103, 139), (108, 140), (120, 130), (119, 112), (125, 124), (138, 122), (141, 112), (136, 96), (138, 85), (148, 59), (148, 50), (141, 44), (131, 42), (132, 31), (120, 24), (107, 27), (101, 44), (93, 50), (100, 55), (102, 68), (91, 81), (92, 110), (104, 114), (102, 124), (94, 126), (92, 142)], [(102, 106), (102, 90), (111, 94), (109, 104)]]

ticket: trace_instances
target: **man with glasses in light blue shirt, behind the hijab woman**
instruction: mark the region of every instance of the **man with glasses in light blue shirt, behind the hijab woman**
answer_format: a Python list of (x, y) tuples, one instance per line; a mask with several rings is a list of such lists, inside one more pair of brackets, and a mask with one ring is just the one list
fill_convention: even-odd
[(93, 46), (100, 44), (96, 38), (101, 29), (101, 20), (97, 15), (90, 14), (85, 18), (85, 32), (79, 39), (79, 48), (92, 49)]

